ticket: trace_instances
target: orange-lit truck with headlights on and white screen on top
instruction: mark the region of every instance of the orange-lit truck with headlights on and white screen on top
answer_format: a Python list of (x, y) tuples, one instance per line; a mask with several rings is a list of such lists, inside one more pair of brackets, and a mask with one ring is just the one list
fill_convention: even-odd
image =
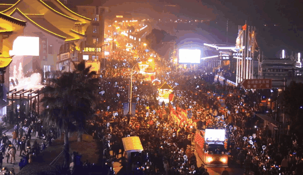
[(227, 166), (225, 130), (205, 129), (195, 133), (195, 150), (206, 165)]

